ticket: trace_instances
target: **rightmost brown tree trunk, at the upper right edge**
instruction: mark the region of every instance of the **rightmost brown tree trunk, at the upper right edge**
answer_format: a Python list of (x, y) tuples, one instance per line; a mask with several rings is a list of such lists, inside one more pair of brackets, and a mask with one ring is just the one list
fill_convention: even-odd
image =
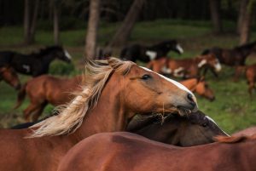
[[(245, 6), (245, 13), (242, 16), (241, 26), (240, 26), (240, 44), (247, 43), (249, 41), (249, 35), (251, 30), (251, 22), (253, 16), (253, 7), (254, 7), (254, 0), (242, 0), (246, 1)], [(244, 2), (241, 2), (244, 3)]]

